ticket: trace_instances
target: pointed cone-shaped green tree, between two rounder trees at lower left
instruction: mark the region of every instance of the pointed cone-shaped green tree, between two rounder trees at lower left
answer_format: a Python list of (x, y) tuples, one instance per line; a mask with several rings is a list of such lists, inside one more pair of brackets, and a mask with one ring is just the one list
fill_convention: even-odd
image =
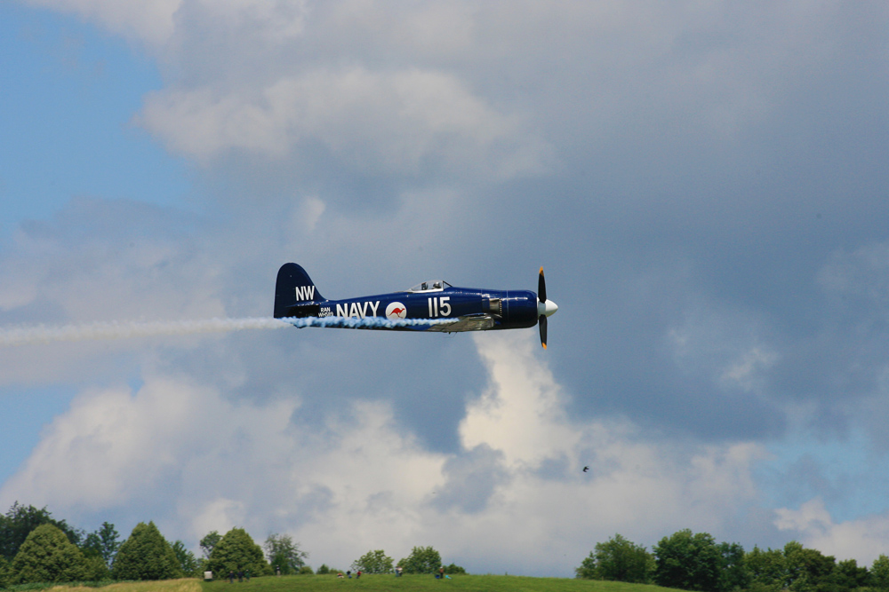
[(111, 566), (115, 580), (170, 580), (182, 575), (176, 554), (154, 522), (140, 522), (132, 529)]

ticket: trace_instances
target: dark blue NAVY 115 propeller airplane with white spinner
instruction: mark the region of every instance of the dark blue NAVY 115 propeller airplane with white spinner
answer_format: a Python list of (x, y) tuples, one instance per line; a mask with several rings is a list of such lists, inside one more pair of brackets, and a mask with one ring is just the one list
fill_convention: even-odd
[(275, 285), (275, 318), (317, 320), (298, 327), (420, 330), (443, 333), (492, 329), (541, 329), (547, 347), (547, 318), (558, 310), (547, 299), (543, 268), (537, 294), (530, 290), (456, 288), (444, 280), (424, 281), (402, 292), (328, 300), (300, 265), (285, 263)]

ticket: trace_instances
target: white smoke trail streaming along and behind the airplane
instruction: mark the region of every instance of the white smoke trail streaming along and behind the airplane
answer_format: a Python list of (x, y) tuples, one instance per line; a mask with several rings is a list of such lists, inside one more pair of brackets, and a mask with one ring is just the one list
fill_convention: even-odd
[(450, 322), (453, 322), (453, 320), (388, 320), (377, 317), (367, 317), (365, 319), (347, 317), (318, 319), (316, 317), (308, 317), (284, 320), (271, 317), (248, 317), (244, 319), (99, 322), (57, 327), (38, 325), (36, 327), (0, 328), (0, 347), (35, 343), (128, 339), (156, 335), (226, 333), (228, 331), (243, 331), (244, 329), (278, 329), (284, 327), (416, 328), (422, 330)]

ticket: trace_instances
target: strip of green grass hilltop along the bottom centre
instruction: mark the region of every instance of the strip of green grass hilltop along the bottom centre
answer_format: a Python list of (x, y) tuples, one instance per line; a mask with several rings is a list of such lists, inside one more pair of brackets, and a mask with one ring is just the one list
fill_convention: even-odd
[[(298, 575), (252, 578), (249, 582), (228, 580), (203, 582), (204, 592), (667, 592), (670, 588), (625, 584), (616, 581), (573, 580), (569, 578), (526, 578), (511, 575), (453, 575), (436, 580), (431, 575), (368, 575), (340, 580), (332, 575)], [(122, 591), (123, 592), (123, 591)], [(670, 590), (670, 592), (672, 592)]]

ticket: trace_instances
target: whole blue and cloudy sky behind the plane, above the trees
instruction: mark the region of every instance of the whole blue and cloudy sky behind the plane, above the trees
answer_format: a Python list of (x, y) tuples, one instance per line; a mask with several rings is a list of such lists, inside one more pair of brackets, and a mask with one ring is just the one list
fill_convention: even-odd
[(286, 261), (328, 297), (534, 289), (543, 265), (560, 308), (548, 351), (536, 330), (4, 347), (0, 505), (194, 549), (290, 533), (340, 566), (432, 544), (570, 576), (613, 533), (681, 528), (889, 554), (887, 16), (3, 4), (3, 335), (268, 316)]

